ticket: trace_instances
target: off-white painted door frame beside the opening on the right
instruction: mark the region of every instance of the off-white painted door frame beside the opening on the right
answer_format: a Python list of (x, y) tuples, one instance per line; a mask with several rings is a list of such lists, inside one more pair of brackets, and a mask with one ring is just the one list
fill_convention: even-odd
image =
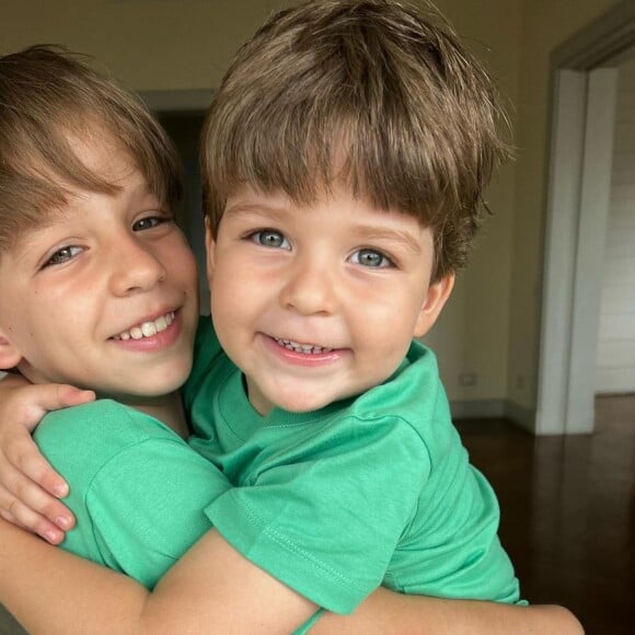
[(552, 56), (536, 435), (593, 431), (617, 67), (635, 57), (624, 0)]

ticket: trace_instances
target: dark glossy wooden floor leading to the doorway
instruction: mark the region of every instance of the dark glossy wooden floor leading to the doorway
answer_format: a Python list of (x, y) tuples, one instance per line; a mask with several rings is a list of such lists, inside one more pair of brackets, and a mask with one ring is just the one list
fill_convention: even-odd
[[(635, 396), (597, 400), (588, 436), (457, 427), (498, 494), (522, 594), (568, 607), (587, 635), (635, 633)], [(22, 633), (0, 607), (0, 635)]]

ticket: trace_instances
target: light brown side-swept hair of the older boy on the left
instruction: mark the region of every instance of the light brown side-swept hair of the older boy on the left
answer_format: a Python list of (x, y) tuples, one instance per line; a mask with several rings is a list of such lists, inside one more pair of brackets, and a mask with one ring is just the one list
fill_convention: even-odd
[(176, 152), (132, 93), (62, 47), (0, 57), (0, 253), (64, 206), (69, 188), (118, 189), (73, 150), (73, 139), (99, 142), (100, 135), (122, 145), (160, 200), (177, 201)]

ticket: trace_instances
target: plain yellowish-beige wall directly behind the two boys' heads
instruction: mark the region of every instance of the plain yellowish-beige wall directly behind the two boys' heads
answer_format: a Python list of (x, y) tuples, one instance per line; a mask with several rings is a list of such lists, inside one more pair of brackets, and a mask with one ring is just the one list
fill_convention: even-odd
[[(518, 102), (521, 77), (521, 1), (437, 0), (467, 46), (490, 68), (511, 104)], [(138, 91), (210, 90), (238, 46), (270, 11), (289, 4), (276, 0), (0, 0), (0, 53), (33, 43), (61, 43), (94, 55), (113, 76)], [(515, 124), (518, 108), (509, 111)], [(507, 397), (516, 174), (517, 165), (506, 166), (489, 188), (487, 200), (494, 216), (485, 223), (472, 262), (428, 337), (460, 414), (499, 414)]]

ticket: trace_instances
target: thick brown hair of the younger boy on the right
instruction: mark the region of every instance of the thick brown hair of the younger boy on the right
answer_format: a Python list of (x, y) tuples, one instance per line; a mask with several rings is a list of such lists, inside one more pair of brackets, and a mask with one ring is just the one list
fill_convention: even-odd
[(434, 230), (438, 280), (465, 264), (507, 153), (501, 118), (489, 76), (447, 25), (391, 0), (311, 0), (239, 50), (212, 101), (206, 215), (216, 232), (243, 182), (309, 204), (344, 178)]

